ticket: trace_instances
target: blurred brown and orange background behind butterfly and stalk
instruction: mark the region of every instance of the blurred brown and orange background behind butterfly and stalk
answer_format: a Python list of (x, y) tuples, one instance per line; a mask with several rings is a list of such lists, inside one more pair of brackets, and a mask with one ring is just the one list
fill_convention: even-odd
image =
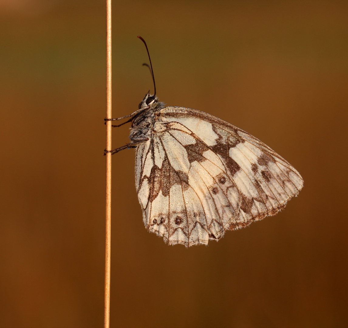
[[(347, 327), (347, 1), (113, 1), (113, 116), (209, 112), (296, 167), (275, 217), (169, 247), (113, 156), (111, 327)], [(0, 327), (102, 327), (105, 3), (0, 1)], [(129, 130), (113, 131), (113, 146)]]

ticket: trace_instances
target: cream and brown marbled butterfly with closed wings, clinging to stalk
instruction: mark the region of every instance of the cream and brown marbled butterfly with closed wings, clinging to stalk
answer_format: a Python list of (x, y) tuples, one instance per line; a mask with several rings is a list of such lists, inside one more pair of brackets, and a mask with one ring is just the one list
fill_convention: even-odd
[(109, 152), (136, 149), (145, 227), (169, 245), (217, 241), (275, 215), (303, 186), (299, 172), (259, 139), (205, 112), (166, 107), (156, 86), (137, 111), (119, 119), (127, 117), (130, 143)]

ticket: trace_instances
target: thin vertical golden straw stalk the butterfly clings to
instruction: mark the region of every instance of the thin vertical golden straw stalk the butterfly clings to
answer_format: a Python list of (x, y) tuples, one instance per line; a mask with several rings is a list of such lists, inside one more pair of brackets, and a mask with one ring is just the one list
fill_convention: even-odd
[[(111, 115), (111, 0), (106, 0), (106, 118)], [(111, 121), (106, 121), (106, 150), (111, 150)], [(110, 325), (111, 153), (106, 153), (104, 328)]]

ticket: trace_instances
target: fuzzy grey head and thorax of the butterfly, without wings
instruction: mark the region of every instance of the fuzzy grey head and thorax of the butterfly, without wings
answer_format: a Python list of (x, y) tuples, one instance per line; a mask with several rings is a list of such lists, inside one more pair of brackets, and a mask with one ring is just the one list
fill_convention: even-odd
[(165, 104), (158, 101), (156, 95), (151, 95), (148, 92), (139, 104), (139, 109), (144, 108), (144, 110), (140, 111), (133, 119), (132, 130), (129, 135), (130, 140), (140, 141), (150, 138), (151, 128), (155, 124), (159, 111), (164, 106)]

